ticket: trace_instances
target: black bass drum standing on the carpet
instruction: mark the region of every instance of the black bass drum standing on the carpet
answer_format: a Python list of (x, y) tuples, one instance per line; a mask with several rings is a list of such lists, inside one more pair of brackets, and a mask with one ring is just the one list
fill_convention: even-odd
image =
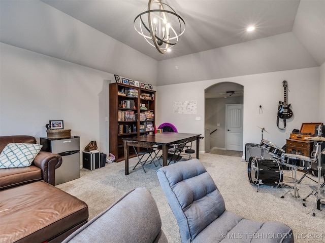
[(250, 157), (247, 171), (250, 183), (255, 185), (279, 187), (283, 181), (280, 163), (274, 159)]

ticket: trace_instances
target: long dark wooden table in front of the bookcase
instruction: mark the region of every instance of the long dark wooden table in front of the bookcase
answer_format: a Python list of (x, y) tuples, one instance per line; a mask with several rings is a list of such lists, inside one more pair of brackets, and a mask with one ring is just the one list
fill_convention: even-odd
[(128, 149), (129, 146), (152, 148), (156, 144), (162, 147), (163, 150), (163, 166), (167, 166), (167, 155), (169, 146), (173, 143), (181, 143), (197, 141), (197, 158), (199, 158), (201, 134), (190, 133), (156, 133), (153, 135), (146, 135), (133, 138), (124, 138), (124, 158), (125, 158), (125, 175), (128, 175)]

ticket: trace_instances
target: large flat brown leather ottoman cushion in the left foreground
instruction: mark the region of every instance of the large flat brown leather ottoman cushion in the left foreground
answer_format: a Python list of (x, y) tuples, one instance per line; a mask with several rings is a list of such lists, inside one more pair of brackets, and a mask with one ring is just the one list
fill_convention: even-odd
[(0, 242), (44, 242), (87, 222), (88, 206), (44, 181), (0, 191)]

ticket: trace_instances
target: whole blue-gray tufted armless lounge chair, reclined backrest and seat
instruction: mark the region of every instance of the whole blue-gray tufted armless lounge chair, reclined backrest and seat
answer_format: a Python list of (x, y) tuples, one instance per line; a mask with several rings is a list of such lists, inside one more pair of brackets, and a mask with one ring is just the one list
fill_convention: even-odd
[(157, 175), (183, 243), (294, 242), (285, 224), (252, 221), (225, 210), (222, 195), (196, 158), (160, 168)]

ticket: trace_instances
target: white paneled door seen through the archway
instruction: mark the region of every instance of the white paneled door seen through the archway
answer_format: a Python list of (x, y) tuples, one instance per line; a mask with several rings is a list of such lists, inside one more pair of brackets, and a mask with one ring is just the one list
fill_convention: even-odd
[(243, 104), (226, 105), (226, 149), (243, 151)]

